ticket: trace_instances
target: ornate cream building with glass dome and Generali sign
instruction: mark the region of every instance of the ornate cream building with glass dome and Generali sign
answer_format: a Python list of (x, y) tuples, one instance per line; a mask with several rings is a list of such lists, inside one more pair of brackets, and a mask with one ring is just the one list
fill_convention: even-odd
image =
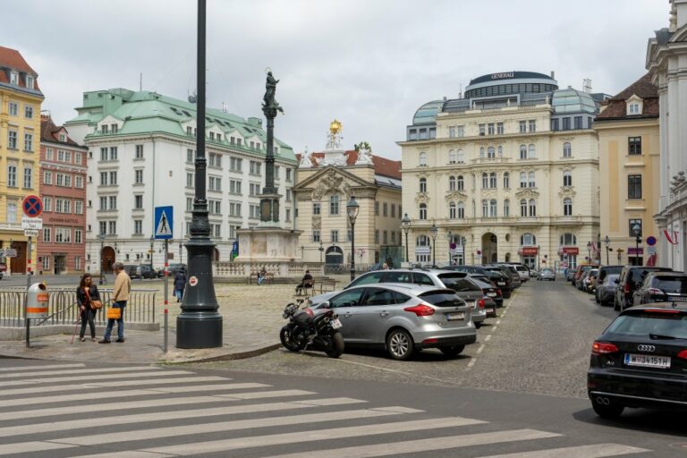
[(472, 80), (461, 98), (421, 106), (399, 142), (411, 261), (598, 259), (591, 125), (602, 98), (558, 89), (553, 74), (504, 72)]

